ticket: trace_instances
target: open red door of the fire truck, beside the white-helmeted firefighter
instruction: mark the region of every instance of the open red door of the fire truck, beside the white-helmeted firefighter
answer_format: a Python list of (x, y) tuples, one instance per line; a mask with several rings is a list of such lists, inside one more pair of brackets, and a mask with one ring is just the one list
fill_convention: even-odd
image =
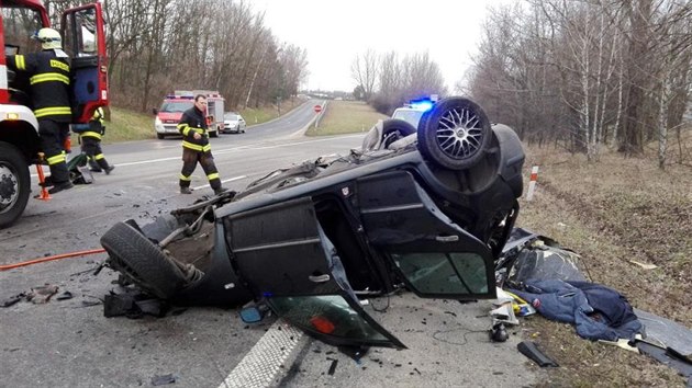
[(63, 47), (71, 58), (72, 116), (87, 123), (99, 106), (109, 102), (108, 58), (101, 3), (63, 12)]

